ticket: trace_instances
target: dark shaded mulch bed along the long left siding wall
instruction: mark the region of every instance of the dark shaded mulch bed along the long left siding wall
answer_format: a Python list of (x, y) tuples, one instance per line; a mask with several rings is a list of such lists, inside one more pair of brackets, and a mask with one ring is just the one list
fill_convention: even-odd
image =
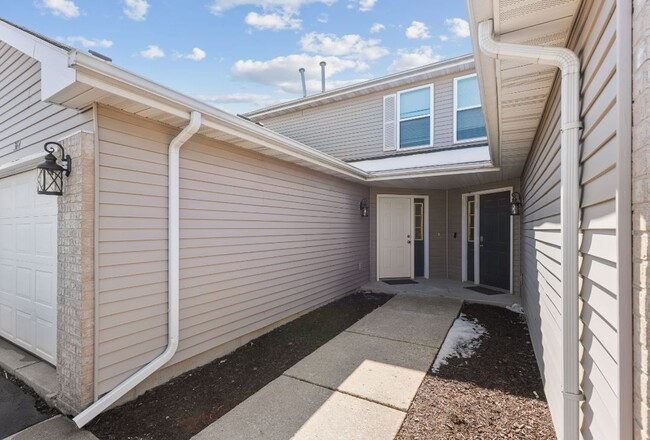
[(355, 294), (107, 411), (85, 427), (105, 439), (189, 439), (392, 296)]

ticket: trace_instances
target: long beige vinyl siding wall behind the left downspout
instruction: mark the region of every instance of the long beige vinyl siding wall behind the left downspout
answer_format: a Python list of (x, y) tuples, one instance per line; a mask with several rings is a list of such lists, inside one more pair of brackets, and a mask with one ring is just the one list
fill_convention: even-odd
[[(176, 130), (99, 108), (99, 394), (159, 354), (167, 148)], [(368, 280), (368, 188), (224, 143), (181, 150), (179, 363)], [(170, 364), (170, 365), (171, 365)]]

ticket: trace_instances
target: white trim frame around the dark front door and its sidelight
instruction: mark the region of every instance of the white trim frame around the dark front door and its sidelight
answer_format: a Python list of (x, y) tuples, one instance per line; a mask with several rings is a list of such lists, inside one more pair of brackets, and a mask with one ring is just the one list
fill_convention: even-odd
[[(469, 196), (474, 196), (474, 284), (481, 284), (481, 248), (480, 240), (477, 240), (476, 237), (481, 236), (481, 195), (482, 194), (491, 194), (497, 192), (506, 192), (510, 193), (510, 198), (512, 199), (512, 192), (514, 188), (512, 186), (495, 188), (495, 189), (486, 189), (483, 191), (473, 191), (468, 193), (463, 193), (462, 198), (462, 228), (461, 228), (461, 237), (462, 237), (462, 259), (463, 259), (463, 282), (467, 281), (467, 198)], [(510, 216), (510, 293), (514, 293), (514, 219), (513, 216)]]

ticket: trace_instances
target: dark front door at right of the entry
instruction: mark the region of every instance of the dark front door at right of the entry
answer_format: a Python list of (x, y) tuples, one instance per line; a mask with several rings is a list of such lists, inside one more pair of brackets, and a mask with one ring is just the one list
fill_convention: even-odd
[(510, 289), (510, 192), (481, 195), (480, 283)]

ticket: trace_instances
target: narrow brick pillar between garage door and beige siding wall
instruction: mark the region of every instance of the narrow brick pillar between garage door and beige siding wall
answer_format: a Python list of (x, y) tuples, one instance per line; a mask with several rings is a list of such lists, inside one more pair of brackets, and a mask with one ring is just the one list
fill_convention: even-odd
[(57, 406), (78, 413), (93, 401), (95, 135), (62, 142), (72, 157), (58, 220)]

